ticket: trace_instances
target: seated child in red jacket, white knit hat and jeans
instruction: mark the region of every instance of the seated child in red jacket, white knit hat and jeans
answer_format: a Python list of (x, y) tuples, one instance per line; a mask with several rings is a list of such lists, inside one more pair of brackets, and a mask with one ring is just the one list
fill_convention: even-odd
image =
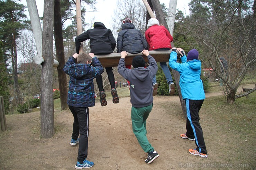
[[(160, 26), (159, 22), (155, 18), (148, 20), (147, 31), (145, 32), (146, 40), (149, 44), (149, 50), (170, 50), (172, 49), (171, 42), (173, 37), (170, 32), (164, 27)], [(171, 72), (166, 64), (166, 62), (160, 62), (160, 66), (164, 72), (165, 78), (169, 87), (169, 94), (173, 95), (175, 93), (175, 85), (173, 83)], [(156, 77), (153, 79), (153, 89), (157, 84)], [(157, 84), (158, 87), (158, 84)]]

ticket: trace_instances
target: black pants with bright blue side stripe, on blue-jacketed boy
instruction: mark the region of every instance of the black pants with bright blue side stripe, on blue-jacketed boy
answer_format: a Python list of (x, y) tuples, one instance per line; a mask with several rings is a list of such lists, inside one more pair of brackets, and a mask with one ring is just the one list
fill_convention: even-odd
[(193, 139), (195, 138), (196, 150), (200, 153), (206, 153), (203, 139), (203, 130), (199, 123), (199, 110), (203, 104), (203, 100), (186, 100), (187, 109), (187, 122), (186, 122), (186, 136)]

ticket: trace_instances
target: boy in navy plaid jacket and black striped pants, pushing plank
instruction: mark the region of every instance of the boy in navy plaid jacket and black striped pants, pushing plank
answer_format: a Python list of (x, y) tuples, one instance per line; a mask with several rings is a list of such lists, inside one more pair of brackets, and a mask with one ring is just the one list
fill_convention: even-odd
[[(75, 168), (90, 168), (94, 163), (86, 160), (88, 156), (89, 107), (95, 105), (93, 79), (103, 73), (103, 67), (93, 53), (81, 53), (70, 57), (64, 65), (63, 71), (70, 76), (67, 104), (74, 117), (70, 144), (75, 146), (80, 143)], [(79, 134), (80, 138), (78, 138)]]

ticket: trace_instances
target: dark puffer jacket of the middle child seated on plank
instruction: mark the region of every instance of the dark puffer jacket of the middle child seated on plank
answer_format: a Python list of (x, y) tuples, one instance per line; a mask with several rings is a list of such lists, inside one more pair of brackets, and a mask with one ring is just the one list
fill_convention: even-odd
[(147, 41), (134, 24), (126, 22), (122, 25), (117, 37), (117, 52), (126, 51), (135, 54), (145, 49), (148, 49)]

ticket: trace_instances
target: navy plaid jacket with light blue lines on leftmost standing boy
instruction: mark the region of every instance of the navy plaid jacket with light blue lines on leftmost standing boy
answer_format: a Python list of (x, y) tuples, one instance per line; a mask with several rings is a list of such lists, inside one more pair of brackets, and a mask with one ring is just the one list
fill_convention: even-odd
[[(93, 66), (92, 66), (93, 64)], [(70, 57), (63, 71), (70, 76), (67, 104), (73, 107), (92, 107), (95, 105), (93, 79), (103, 73), (103, 67), (97, 57), (92, 64), (77, 64)]]

